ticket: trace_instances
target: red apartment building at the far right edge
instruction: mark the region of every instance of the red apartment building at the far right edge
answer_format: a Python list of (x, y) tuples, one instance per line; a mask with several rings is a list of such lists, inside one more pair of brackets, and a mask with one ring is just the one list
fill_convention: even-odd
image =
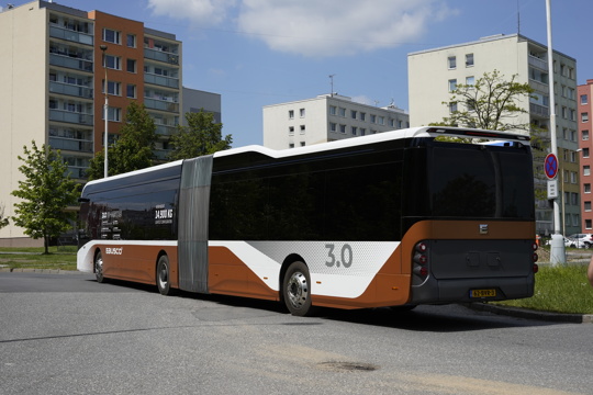
[(585, 84), (577, 88), (579, 98), (578, 123), (579, 123), (579, 150), (581, 166), (581, 213), (582, 229), (584, 233), (593, 233), (593, 211), (591, 204), (593, 196), (591, 194), (591, 184), (593, 184), (593, 139), (590, 138), (593, 131), (593, 79), (586, 80)]

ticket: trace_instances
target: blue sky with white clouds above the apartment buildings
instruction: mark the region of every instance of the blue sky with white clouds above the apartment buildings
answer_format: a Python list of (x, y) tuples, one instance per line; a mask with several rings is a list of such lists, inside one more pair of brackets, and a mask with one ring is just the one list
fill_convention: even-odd
[[(26, 0), (0, 0), (15, 7)], [(407, 54), (521, 34), (547, 44), (546, 0), (57, 0), (181, 41), (183, 86), (222, 97), (233, 147), (262, 144), (262, 108), (334, 92), (407, 111)], [(592, 0), (551, 0), (552, 47), (593, 79)], [(333, 78), (329, 78), (333, 76)]]

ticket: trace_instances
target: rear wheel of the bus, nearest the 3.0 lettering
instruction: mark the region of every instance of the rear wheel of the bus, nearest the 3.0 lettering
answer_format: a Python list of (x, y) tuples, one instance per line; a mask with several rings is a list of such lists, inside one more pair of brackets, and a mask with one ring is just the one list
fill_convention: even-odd
[(282, 281), (282, 298), (294, 316), (306, 317), (315, 313), (311, 303), (311, 275), (303, 262), (292, 262)]

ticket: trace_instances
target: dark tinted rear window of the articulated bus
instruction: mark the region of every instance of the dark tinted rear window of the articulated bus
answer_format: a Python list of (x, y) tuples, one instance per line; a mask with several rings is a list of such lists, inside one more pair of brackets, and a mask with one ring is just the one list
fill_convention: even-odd
[(524, 149), (434, 147), (430, 211), (438, 217), (534, 217), (533, 169)]

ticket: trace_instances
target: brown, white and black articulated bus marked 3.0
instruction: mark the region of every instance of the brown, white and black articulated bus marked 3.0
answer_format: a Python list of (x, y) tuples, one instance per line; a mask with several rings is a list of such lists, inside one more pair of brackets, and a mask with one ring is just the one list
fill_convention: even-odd
[(165, 295), (279, 301), (304, 316), (534, 292), (533, 159), (517, 134), (248, 146), (91, 181), (80, 203), (78, 269)]

